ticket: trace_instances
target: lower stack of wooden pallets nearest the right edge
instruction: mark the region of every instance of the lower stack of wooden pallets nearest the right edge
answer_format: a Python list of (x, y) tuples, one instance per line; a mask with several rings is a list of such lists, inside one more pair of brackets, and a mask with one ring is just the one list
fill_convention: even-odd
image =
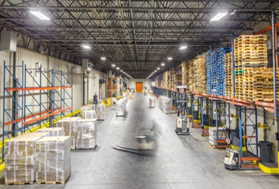
[[(278, 68), (276, 80), (279, 80)], [(279, 98), (279, 84), (276, 85), (276, 98)], [(273, 68), (243, 68), (243, 99), (273, 101)]]

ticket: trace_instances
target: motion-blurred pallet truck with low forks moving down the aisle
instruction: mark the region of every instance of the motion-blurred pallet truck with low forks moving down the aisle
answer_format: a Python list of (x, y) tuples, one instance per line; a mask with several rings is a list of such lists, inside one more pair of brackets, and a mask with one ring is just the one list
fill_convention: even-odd
[(137, 139), (137, 142), (139, 143), (137, 149), (129, 148), (127, 146), (119, 146), (119, 145), (116, 145), (112, 148), (119, 151), (125, 151), (125, 152), (135, 153), (144, 156), (153, 155), (156, 149), (154, 127), (140, 128), (140, 132), (135, 136), (135, 139)]

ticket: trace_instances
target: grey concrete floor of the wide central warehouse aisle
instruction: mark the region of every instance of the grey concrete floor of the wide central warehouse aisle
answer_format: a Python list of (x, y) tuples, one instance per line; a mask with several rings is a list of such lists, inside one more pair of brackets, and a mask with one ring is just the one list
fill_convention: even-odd
[[(72, 151), (72, 176), (65, 185), (3, 186), (1, 172), (0, 188), (279, 188), (279, 176), (225, 169), (225, 149), (212, 149), (199, 129), (177, 136), (176, 114), (164, 114), (157, 105), (156, 99), (156, 108), (149, 108), (149, 96), (136, 93), (126, 116), (116, 117), (115, 109), (107, 107), (107, 119), (98, 121), (96, 151)], [(155, 155), (112, 149), (116, 144), (136, 147), (137, 129), (153, 124)]]

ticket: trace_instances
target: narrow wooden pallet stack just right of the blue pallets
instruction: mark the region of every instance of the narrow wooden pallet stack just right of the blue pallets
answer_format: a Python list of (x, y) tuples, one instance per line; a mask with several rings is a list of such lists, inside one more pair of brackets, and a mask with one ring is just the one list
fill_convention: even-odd
[(232, 97), (232, 52), (225, 54), (226, 96)]

